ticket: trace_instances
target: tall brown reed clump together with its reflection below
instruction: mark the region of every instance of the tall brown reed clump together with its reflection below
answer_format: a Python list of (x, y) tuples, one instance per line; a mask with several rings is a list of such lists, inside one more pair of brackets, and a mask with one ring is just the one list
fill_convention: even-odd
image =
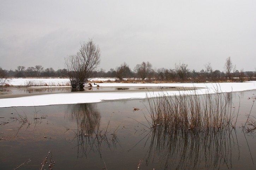
[[(162, 96), (149, 104), (153, 126), (147, 165), (158, 159), (164, 169), (232, 168), (238, 147), (232, 93)], [(239, 159), (237, 150), (233, 156)]]

